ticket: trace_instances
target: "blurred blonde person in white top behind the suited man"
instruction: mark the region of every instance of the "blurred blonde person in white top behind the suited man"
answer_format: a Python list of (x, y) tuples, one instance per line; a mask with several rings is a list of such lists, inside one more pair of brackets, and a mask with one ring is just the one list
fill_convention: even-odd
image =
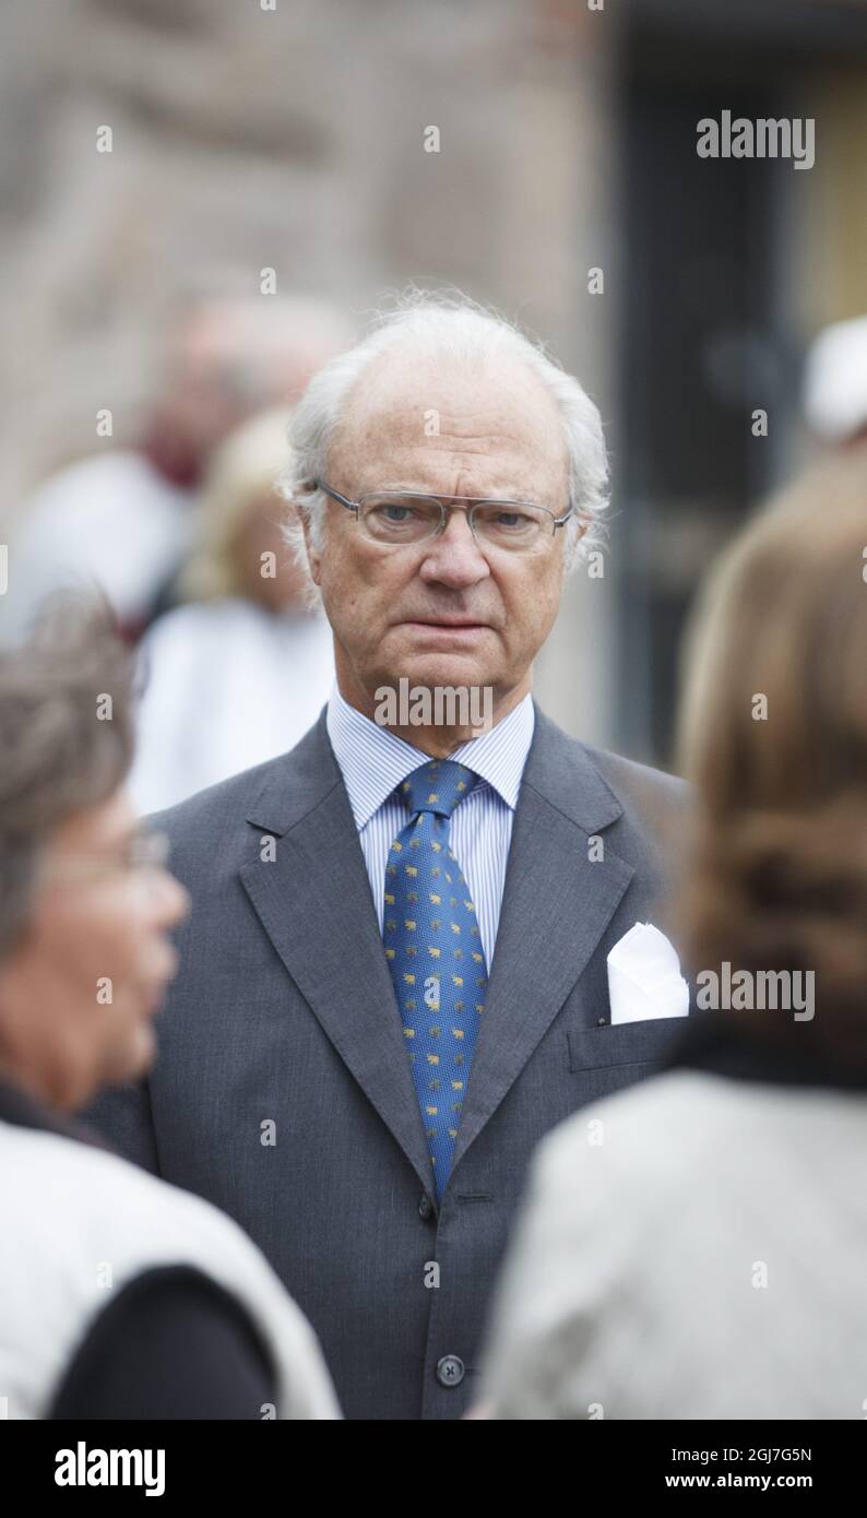
[(141, 812), (293, 748), (334, 683), (331, 628), (282, 536), (288, 411), (244, 422), (217, 449), (181, 577), (188, 603), (140, 645), (132, 800)]

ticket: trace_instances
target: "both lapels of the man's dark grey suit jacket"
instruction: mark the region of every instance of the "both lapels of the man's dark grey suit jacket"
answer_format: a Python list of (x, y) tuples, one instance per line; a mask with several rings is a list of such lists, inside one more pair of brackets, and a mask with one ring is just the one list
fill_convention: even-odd
[[(603, 937), (633, 868), (588, 838), (623, 808), (580, 744), (536, 707), (515, 812), (497, 947), (454, 1164), (497, 1110)], [(425, 1143), (401, 1019), (364, 856), (325, 727), (325, 713), (287, 759), (269, 767), (241, 868), (273, 947), (337, 1053), (413, 1164), (428, 1195)]]

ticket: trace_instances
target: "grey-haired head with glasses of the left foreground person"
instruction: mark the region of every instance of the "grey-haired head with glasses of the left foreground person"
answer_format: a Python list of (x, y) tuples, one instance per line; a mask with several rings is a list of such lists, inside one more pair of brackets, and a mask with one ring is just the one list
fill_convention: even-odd
[(0, 1075), (52, 1105), (141, 1075), (187, 896), (137, 833), (129, 653), (64, 603), (0, 656)]

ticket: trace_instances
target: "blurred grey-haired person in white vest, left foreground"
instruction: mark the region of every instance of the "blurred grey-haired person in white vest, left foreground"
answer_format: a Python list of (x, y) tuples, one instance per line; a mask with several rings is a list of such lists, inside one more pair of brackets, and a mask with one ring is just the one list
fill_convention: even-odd
[(0, 654), (0, 1387), (11, 1418), (337, 1416), (240, 1228), (70, 1117), (150, 1066), (188, 909), (125, 795), (109, 628), (70, 606)]

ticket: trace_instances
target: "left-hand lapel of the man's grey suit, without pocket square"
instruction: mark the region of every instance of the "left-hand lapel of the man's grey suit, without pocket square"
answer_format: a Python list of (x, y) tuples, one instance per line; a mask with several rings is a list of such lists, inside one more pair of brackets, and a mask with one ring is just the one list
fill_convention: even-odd
[(241, 868), (273, 947), (337, 1053), (434, 1195), (410, 1061), (364, 856), (325, 713), (284, 765), (273, 767), (249, 821), (261, 839)]

